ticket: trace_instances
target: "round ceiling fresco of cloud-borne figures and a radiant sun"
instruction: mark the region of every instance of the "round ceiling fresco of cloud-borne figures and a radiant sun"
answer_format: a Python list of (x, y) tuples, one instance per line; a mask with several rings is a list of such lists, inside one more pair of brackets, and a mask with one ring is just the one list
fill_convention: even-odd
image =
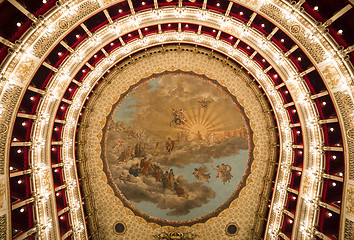
[(109, 171), (144, 214), (199, 218), (228, 200), (244, 176), (245, 119), (230, 95), (210, 81), (163, 75), (127, 94), (108, 119)]

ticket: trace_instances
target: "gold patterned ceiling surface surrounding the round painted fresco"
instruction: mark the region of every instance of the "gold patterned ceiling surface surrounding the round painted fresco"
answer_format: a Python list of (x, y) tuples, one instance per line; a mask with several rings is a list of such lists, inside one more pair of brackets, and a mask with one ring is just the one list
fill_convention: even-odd
[[(81, 128), (79, 133), (79, 141), (85, 143), (82, 146), (79, 145), (79, 157), (86, 158), (86, 168), (83, 171), (87, 172), (85, 175), (88, 176), (91, 182), (90, 185), (95, 193), (94, 201), (99, 216), (98, 223), (100, 228), (103, 229), (102, 236), (104, 238), (114, 237), (115, 233), (112, 230), (111, 223), (118, 220), (125, 222), (127, 225), (127, 232), (122, 236), (122, 238), (127, 239), (141, 238), (143, 236), (151, 238), (152, 235), (161, 233), (161, 231), (168, 231), (169, 229), (168, 226), (160, 227), (156, 223), (149, 223), (149, 221), (143, 220), (138, 216), (131, 218), (130, 214), (126, 214), (130, 210), (124, 207), (122, 203), (117, 203), (119, 200), (114, 196), (110, 186), (107, 185), (107, 180), (102, 170), (101, 152), (103, 150), (101, 148), (101, 141), (102, 129), (106, 124), (105, 119), (121, 93), (124, 93), (130, 86), (136, 84), (137, 81), (146, 76), (174, 69), (174, 71), (200, 72), (201, 74), (205, 74), (206, 77), (213, 77), (216, 80), (220, 78), (219, 82), (222, 82), (243, 103), (242, 107), (245, 108), (245, 113), (251, 121), (250, 126), (254, 132), (253, 141), (255, 142), (255, 155), (252, 164), (253, 171), (248, 177), (252, 180), (246, 184), (244, 190), (241, 190), (239, 198), (232, 202), (229, 208), (223, 210), (218, 217), (212, 217), (205, 224), (195, 224), (190, 229), (186, 226), (181, 226), (179, 229), (183, 229), (181, 230), (183, 232), (192, 231), (201, 238), (206, 238), (207, 236), (218, 238), (226, 234), (224, 227), (220, 226), (221, 222), (219, 219), (222, 219), (223, 222), (237, 222), (240, 228), (237, 236), (240, 239), (247, 239), (251, 228), (255, 224), (255, 221), (252, 220), (256, 211), (255, 207), (259, 204), (249, 202), (247, 199), (257, 199), (256, 196), (262, 192), (263, 187), (260, 187), (262, 184), (257, 183), (257, 181), (261, 180), (263, 182), (263, 177), (267, 175), (267, 162), (274, 158), (274, 156), (271, 156), (270, 148), (272, 148), (271, 146), (274, 144), (272, 141), (275, 139), (273, 138), (272, 140), (271, 135), (268, 135), (268, 131), (266, 130), (271, 125), (269, 126), (269, 122), (263, 121), (263, 119), (269, 119), (269, 117), (267, 117), (267, 113), (260, 105), (260, 100), (254, 94), (254, 90), (247, 87), (246, 82), (249, 81), (249, 79), (247, 80), (247, 75), (244, 74), (241, 76), (239, 73), (235, 73), (230, 67), (223, 65), (220, 61), (209, 58), (204, 54), (187, 51), (168, 51), (175, 48), (176, 46), (166, 46), (166, 52), (164, 53), (158, 53), (160, 48), (157, 48), (158, 50), (152, 48), (147, 52), (138, 53), (136, 56), (132, 56), (132, 59), (134, 59), (133, 63), (124, 69), (121, 69), (121, 65), (118, 64), (109, 76), (103, 80), (101, 83), (103, 86), (96, 89), (94, 96), (90, 98), (86, 105), (90, 109), (90, 112), (84, 114), (80, 122), (80, 124), (84, 124), (86, 127)], [(194, 49), (194, 47), (188, 45), (182, 45), (181, 48)], [(153, 54), (151, 55), (150, 53)], [(144, 57), (139, 58), (141, 56)], [(220, 57), (222, 56), (220, 55)], [(124, 62), (122, 64), (124, 65)], [(208, 67), (210, 65), (213, 66), (212, 70)], [(265, 161), (265, 159), (268, 160)], [(91, 174), (92, 177), (90, 177)], [(102, 191), (102, 189), (105, 189), (105, 191)], [(107, 206), (110, 206), (110, 211), (106, 211)], [(242, 219), (247, 216), (247, 220), (241, 220), (241, 216)], [(201, 235), (202, 233), (203, 235)]]

